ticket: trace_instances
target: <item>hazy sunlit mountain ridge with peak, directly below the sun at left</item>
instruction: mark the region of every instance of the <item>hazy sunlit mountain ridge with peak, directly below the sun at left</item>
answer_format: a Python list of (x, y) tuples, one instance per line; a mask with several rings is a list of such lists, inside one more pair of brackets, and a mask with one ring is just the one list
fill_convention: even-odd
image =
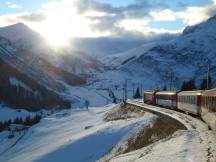
[(10, 40), (18, 50), (29, 51), (33, 57), (39, 56), (72, 74), (88, 74), (102, 67), (99, 60), (72, 46), (56, 50), (43, 36), (23, 23), (0, 28), (0, 36)]

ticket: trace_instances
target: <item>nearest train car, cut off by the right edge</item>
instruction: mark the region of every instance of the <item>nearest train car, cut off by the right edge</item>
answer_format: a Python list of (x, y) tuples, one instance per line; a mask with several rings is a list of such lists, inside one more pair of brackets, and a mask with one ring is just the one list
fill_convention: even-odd
[(202, 93), (201, 111), (202, 119), (211, 129), (216, 130), (216, 89)]

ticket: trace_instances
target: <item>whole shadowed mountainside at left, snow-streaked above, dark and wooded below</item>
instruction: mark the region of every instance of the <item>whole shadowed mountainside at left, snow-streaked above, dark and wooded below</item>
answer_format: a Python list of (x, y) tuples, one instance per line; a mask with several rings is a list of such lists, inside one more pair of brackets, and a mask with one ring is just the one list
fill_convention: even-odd
[(56, 93), (64, 89), (58, 80), (72, 85), (85, 83), (82, 78), (57, 68), (44, 59), (32, 57), (29, 51), (18, 50), (3, 37), (0, 37), (0, 73), (1, 102), (30, 111), (70, 107), (70, 102)]

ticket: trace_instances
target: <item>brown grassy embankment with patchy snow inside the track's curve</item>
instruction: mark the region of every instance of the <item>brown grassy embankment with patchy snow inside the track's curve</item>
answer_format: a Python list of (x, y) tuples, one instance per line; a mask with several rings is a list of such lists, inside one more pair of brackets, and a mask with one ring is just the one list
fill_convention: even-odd
[(117, 120), (133, 120), (143, 115), (153, 115), (155, 120), (148, 127), (143, 126), (137, 132), (131, 134), (127, 139), (117, 144), (110, 152), (102, 158), (102, 161), (109, 161), (112, 157), (125, 154), (131, 151), (147, 147), (162, 139), (172, 138), (177, 131), (187, 130), (187, 127), (166, 114), (145, 109), (132, 103), (123, 103), (113, 111), (108, 112), (104, 120), (107, 122)]

